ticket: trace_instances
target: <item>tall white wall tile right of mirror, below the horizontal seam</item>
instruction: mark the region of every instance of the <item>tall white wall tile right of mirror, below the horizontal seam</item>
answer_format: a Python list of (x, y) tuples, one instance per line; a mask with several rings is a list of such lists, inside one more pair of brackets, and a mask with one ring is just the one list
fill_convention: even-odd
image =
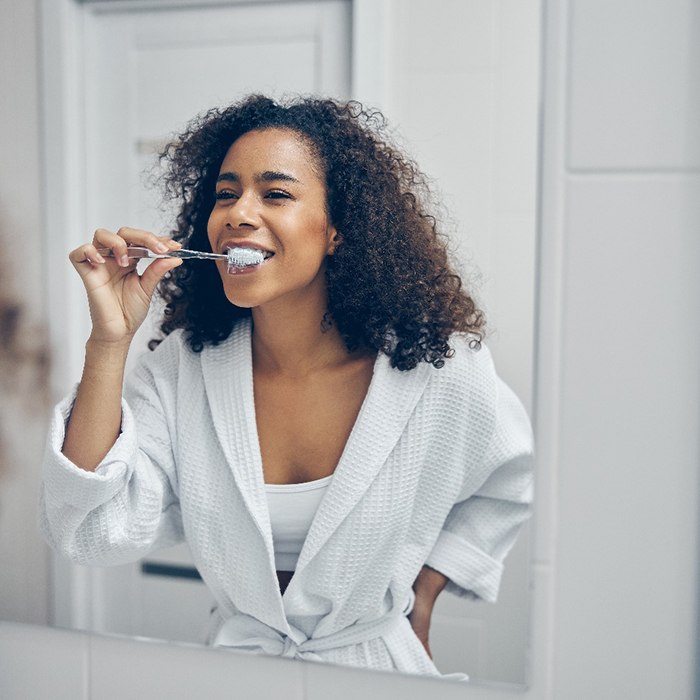
[(569, 188), (557, 697), (689, 697), (698, 192), (700, 176), (589, 176)]

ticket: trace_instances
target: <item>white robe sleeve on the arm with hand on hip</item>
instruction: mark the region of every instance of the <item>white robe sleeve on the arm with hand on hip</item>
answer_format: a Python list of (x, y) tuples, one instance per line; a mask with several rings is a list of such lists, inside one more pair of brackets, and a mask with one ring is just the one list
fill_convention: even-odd
[(486, 479), (467, 479), (426, 564), (449, 579), (445, 590), (494, 602), (503, 560), (531, 514), (533, 440), (525, 409), (496, 379), (495, 420), (484, 454)]

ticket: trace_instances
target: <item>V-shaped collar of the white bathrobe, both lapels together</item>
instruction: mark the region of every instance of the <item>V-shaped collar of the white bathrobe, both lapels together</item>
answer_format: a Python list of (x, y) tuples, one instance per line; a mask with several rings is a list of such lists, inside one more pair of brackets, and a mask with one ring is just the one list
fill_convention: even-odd
[[(238, 322), (223, 343), (206, 346), (201, 363), (216, 435), (246, 504), (247, 515), (260, 532), (270, 581), (277, 588), (255, 420), (250, 320)], [(430, 369), (427, 363), (420, 363), (415, 369), (402, 372), (390, 366), (386, 355), (378, 355), (367, 395), (313, 519), (290, 587), (357, 505), (386, 462), (425, 390)], [(279, 589), (277, 593), (279, 597)]]

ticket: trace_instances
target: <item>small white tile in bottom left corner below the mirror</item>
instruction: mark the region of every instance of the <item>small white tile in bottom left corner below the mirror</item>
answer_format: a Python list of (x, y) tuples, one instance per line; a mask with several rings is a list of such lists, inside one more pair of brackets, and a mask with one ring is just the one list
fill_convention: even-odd
[(0, 622), (0, 698), (88, 700), (87, 635)]

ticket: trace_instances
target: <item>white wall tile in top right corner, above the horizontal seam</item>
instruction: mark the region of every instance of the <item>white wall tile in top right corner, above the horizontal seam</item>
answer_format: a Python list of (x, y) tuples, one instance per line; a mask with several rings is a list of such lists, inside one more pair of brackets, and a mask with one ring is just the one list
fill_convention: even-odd
[(572, 168), (700, 166), (694, 0), (573, 0)]

